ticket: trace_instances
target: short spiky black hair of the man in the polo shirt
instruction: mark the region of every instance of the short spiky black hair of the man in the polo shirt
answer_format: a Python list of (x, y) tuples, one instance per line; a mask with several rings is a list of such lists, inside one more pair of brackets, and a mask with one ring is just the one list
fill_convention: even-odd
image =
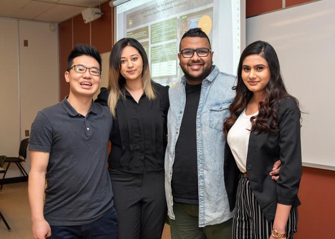
[(67, 71), (70, 70), (73, 59), (80, 56), (90, 56), (97, 60), (100, 66), (101, 72), (101, 56), (100, 52), (94, 46), (86, 45), (86, 44), (77, 44), (73, 47), (72, 51), (67, 57)]

